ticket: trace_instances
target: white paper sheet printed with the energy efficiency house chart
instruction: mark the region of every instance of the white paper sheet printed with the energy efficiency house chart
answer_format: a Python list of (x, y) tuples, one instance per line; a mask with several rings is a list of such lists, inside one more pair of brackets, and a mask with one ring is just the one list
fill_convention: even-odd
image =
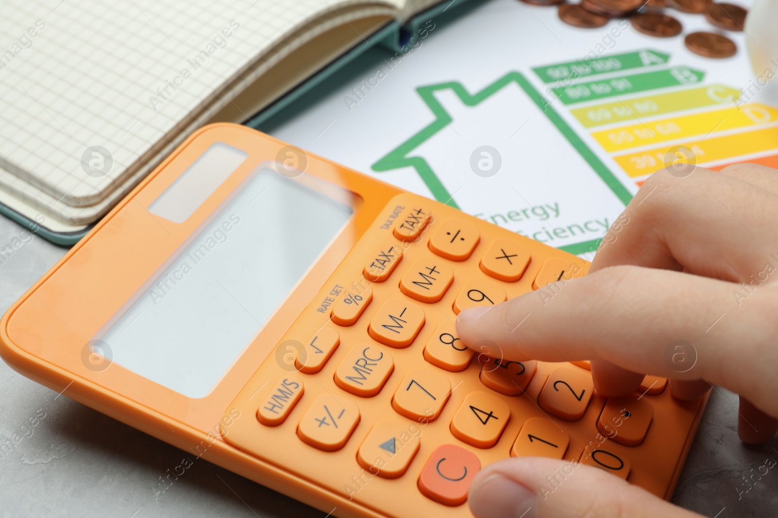
[(778, 166), (778, 92), (748, 90), (745, 35), (714, 61), (625, 20), (581, 30), (515, 0), (474, 13), (440, 23), (401, 66), (365, 57), (271, 133), (587, 259), (679, 147), (710, 169)]

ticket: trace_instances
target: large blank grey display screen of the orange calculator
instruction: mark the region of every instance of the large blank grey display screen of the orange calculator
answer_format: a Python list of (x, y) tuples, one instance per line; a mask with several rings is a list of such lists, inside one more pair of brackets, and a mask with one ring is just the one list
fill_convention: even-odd
[(353, 195), (312, 181), (258, 168), (96, 337), (112, 360), (208, 395), (349, 222)]

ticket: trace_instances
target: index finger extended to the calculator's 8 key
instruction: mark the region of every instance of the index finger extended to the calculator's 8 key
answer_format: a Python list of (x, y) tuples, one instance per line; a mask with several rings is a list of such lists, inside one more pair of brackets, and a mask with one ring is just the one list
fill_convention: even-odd
[(732, 296), (737, 287), (671, 270), (615, 266), (557, 283), (552, 297), (534, 291), (482, 315), (462, 311), (457, 332), (465, 345), (492, 344), (492, 353), (506, 360), (608, 360), (638, 373), (705, 379), (778, 416), (772, 396), (778, 381), (769, 367), (778, 361), (769, 341), (778, 298), (774, 288), (763, 287), (748, 307), (739, 306)]

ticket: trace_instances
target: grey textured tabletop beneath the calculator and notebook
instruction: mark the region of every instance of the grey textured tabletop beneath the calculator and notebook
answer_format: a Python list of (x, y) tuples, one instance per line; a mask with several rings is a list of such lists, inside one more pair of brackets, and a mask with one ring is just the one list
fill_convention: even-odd
[[(0, 245), (22, 230), (0, 217)], [(65, 252), (35, 237), (2, 262), (0, 309), (9, 308)], [(673, 502), (718, 518), (776, 516), (778, 474), (749, 477), (768, 457), (778, 459), (778, 441), (744, 446), (737, 405), (736, 395), (723, 388), (713, 392)], [(37, 426), (30, 426), (36, 416)], [(159, 492), (160, 477), (180, 464), (182, 450), (0, 363), (0, 441), (15, 434), (21, 440), (12, 441), (10, 451), (0, 450), (0, 516), (326, 515), (202, 460)]]

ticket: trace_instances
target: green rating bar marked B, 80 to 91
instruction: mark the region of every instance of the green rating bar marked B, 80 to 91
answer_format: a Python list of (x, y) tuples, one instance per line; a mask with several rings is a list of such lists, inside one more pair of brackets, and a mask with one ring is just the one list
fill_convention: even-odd
[(554, 95), (564, 104), (584, 103), (608, 97), (622, 96), (668, 86), (692, 85), (703, 80), (705, 72), (689, 67), (673, 67), (666, 70), (643, 72), (643, 74), (622, 75), (572, 86), (552, 89)]

